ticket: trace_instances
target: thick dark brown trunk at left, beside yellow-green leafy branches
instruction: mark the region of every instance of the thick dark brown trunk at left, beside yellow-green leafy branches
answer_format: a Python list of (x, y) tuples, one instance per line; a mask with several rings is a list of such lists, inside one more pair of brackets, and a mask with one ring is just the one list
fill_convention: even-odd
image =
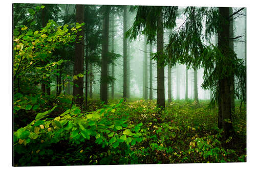
[[(76, 22), (84, 22), (84, 5), (76, 5)], [(83, 74), (83, 60), (84, 60), (84, 27), (77, 32), (75, 43), (75, 59), (74, 59), (74, 75)], [(82, 36), (79, 40), (79, 36)], [(83, 103), (83, 77), (74, 79), (73, 95), (75, 96), (75, 103), (82, 107)]]

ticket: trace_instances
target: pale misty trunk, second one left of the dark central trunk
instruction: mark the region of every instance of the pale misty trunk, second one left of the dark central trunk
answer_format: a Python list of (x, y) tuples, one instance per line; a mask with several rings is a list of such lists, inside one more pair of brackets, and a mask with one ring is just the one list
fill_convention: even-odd
[(148, 99), (148, 86), (147, 86), (147, 44), (146, 44), (147, 37), (144, 36), (144, 57), (143, 57), (143, 89), (144, 89), (144, 96), (145, 100)]

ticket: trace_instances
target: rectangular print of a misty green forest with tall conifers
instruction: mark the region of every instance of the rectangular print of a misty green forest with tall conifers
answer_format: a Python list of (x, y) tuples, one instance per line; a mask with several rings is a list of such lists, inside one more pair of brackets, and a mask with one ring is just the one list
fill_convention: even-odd
[(13, 166), (246, 162), (246, 8), (13, 4)]

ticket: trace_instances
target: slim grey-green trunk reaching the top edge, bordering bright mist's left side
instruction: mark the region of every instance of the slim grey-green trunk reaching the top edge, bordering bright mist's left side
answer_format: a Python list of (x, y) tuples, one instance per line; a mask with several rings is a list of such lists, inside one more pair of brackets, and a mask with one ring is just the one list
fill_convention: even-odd
[(127, 98), (127, 6), (123, 7), (123, 98)]

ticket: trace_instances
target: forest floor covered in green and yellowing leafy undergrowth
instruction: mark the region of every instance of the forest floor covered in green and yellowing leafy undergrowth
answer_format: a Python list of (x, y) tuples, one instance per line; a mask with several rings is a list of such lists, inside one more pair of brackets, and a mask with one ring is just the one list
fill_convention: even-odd
[(208, 105), (174, 101), (160, 110), (156, 101), (89, 101), (87, 111), (60, 106), (43, 120), (20, 109), (14, 165), (246, 162), (246, 105), (236, 103), (229, 138), (217, 128), (217, 107)]

